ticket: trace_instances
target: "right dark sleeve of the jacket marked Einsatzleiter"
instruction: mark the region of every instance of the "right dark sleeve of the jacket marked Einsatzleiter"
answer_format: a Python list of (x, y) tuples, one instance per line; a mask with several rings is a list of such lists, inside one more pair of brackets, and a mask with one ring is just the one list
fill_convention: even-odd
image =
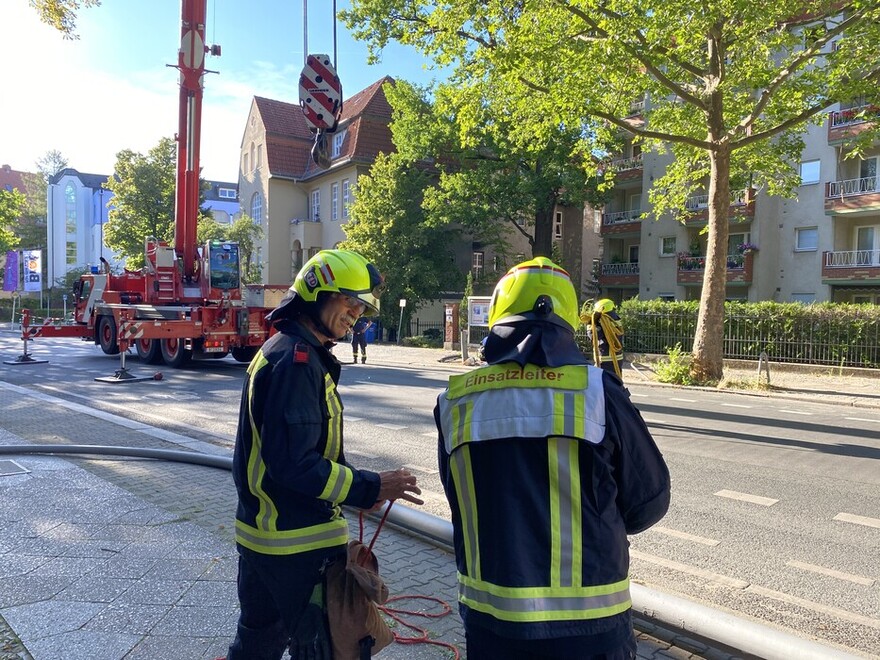
[(614, 476), (617, 506), (627, 534), (638, 534), (669, 509), (669, 469), (623, 384), (604, 373), (605, 438), (617, 448)]

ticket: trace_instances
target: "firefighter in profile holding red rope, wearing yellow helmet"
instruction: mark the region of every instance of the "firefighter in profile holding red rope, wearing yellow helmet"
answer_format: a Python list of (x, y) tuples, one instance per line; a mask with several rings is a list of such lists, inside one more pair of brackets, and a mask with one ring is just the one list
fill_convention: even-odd
[(269, 315), (277, 332), (248, 367), (235, 440), (241, 614), (229, 660), (276, 660), (288, 646), (300, 660), (329, 657), (321, 600), (312, 593), (345, 553), (340, 506), (422, 503), (407, 470), (377, 474), (345, 459), (341, 367), (329, 349), (362, 314), (379, 312), (381, 284), (361, 255), (324, 250)]

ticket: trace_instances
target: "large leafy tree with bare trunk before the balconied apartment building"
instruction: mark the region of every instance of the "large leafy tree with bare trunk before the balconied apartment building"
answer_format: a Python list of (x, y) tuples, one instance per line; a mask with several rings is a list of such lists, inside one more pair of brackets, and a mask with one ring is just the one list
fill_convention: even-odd
[(621, 133), (668, 151), (649, 192), (658, 215), (708, 190), (701, 382), (722, 375), (731, 186), (791, 194), (808, 125), (837, 102), (878, 99), (880, 0), (353, 0), (342, 15), (373, 58), (393, 40), (453, 67), (450, 88), (477, 123), (474, 90), (491, 85), (516, 113), (512, 140), (586, 125), (584, 153)]

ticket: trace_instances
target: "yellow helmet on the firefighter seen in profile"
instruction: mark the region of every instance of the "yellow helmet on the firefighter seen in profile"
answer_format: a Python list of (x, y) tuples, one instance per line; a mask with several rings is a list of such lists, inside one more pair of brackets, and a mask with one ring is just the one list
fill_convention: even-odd
[(303, 265), (290, 290), (306, 302), (325, 291), (344, 293), (366, 305), (364, 316), (375, 316), (382, 284), (379, 270), (357, 252), (321, 250)]

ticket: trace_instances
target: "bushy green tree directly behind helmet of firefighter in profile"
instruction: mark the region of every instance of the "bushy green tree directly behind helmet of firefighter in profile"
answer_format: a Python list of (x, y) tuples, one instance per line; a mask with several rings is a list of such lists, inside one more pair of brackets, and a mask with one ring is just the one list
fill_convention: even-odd
[(419, 301), (461, 286), (452, 246), (456, 232), (425, 222), (422, 194), (429, 175), (398, 154), (381, 154), (370, 174), (358, 178), (351, 220), (340, 245), (360, 252), (385, 276), (382, 325), (399, 323), (398, 301), (406, 299), (404, 323)]

